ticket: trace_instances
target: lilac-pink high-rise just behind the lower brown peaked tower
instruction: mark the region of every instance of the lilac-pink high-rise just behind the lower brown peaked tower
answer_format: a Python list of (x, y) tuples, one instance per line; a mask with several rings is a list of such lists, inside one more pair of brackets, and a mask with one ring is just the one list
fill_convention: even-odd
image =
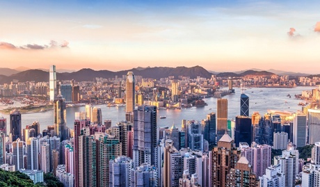
[(245, 156), (252, 165), (256, 177), (262, 177), (266, 168), (271, 165), (271, 146), (270, 145), (252, 145), (240, 143), (239, 148), (242, 156)]

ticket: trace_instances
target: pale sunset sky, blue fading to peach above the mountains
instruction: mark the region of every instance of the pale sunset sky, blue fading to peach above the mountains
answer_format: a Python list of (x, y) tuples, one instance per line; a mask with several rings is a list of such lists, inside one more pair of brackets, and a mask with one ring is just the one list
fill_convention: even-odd
[(320, 74), (320, 1), (1, 0), (0, 67)]

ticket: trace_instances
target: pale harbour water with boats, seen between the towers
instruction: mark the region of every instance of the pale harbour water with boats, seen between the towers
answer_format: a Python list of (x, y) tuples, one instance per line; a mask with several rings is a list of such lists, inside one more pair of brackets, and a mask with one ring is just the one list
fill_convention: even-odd
[[(294, 95), (299, 95), (303, 90), (312, 90), (313, 88), (247, 88), (245, 94), (250, 98), (249, 114), (251, 115), (254, 111), (264, 114), (268, 109), (291, 112), (301, 110), (301, 106), (298, 106), (301, 100), (295, 99)], [(223, 97), (228, 100), (228, 119), (234, 119), (240, 114), (240, 95), (240, 89), (235, 88), (235, 94)], [(291, 95), (291, 98), (287, 97), (287, 95)], [(208, 113), (216, 112), (216, 98), (209, 97), (204, 100), (208, 105), (199, 108), (159, 110), (157, 113), (158, 127), (170, 127), (174, 123), (175, 127), (180, 129), (182, 120), (202, 120), (205, 119)], [(125, 107), (108, 107), (105, 104), (98, 105), (98, 107), (102, 109), (103, 120), (111, 120), (112, 125), (125, 120)], [(73, 129), (74, 113), (80, 111), (85, 111), (85, 107), (67, 108), (67, 127)], [(9, 115), (2, 116), (7, 118), (7, 129), (9, 129)], [(160, 116), (166, 116), (166, 118), (160, 119)], [(22, 127), (32, 124), (35, 120), (40, 122), (40, 131), (42, 131), (47, 125), (53, 125), (54, 111), (22, 114)]]

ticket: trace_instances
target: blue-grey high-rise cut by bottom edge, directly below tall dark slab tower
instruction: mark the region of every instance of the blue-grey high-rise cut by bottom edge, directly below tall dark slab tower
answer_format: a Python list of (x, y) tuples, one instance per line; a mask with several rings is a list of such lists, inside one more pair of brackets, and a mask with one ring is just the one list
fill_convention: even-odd
[(147, 163), (143, 163), (135, 170), (131, 170), (131, 186), (156, 187), (157, 170)]

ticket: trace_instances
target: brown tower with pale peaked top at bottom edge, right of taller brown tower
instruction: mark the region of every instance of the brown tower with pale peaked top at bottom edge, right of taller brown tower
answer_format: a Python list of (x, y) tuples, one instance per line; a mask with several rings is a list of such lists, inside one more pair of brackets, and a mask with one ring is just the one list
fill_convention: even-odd
[(242, 156), (235, 168), (227, 174), (226, 186), (248, 186), (257, 187), (259, 184), (255, 174), (251, 172), (251, 165), (246, 157)]

